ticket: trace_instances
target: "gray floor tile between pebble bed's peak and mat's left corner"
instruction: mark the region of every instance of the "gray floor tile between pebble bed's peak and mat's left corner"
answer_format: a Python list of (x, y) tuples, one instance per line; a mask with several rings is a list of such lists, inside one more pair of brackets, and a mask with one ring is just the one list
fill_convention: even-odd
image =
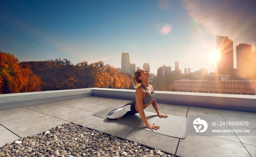
[(85, 118), (76, 120), (76, 121), (74, 121), (74, 123), (88, 127), (90, 129), (94, 129), (95, 127), (98, 127), (108, 121), (109, 120), (107, 120), (107, 119), (103, 119), (103, 118), (99, 118), (97, 116), (90, 115)]

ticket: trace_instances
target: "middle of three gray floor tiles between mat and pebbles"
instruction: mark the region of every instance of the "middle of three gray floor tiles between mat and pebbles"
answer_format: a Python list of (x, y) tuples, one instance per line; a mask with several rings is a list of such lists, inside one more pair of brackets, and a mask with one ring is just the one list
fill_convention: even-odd
[(119, 138), (125, 138), (135, 127), (123, 125), (120, 123), (108, 121), (98, 127), (95, 130), (102, 131), (106, 134), (115, 135)]

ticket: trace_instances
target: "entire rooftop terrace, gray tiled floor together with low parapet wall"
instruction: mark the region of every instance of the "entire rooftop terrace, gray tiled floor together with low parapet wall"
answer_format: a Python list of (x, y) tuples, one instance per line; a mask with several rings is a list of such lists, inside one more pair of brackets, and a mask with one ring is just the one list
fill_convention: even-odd
[[(177, 156), (256, 156), (256, 96), (155, 91), (162, 114), (190, 118), (187, 137), (178, 139), (109, 121), (94, 113), (121, 107), (135, 90), (74, 89), (0, 95), (0, 147), (63, 123), (76, 123)], [(238, 110), (238, 111), (235, 111)], [(152, 106), (145, 109), (155, 112)], [(208, 130), (250, 130), (250, 134), (196, 133), (193, 121), (206, 120)], [(245, 126), (213, 126), (212, 122), (248, 122)], [(175, 129), (170, 126), (170, 129)]]

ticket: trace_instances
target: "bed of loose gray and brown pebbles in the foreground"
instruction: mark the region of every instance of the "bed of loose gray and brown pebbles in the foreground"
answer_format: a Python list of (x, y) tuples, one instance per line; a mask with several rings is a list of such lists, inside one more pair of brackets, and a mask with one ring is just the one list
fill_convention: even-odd
[(1, 156), (16, 157), (173, 157), (140, 143), (68, 123), (45, 133), (20, 138), (0, 148)]

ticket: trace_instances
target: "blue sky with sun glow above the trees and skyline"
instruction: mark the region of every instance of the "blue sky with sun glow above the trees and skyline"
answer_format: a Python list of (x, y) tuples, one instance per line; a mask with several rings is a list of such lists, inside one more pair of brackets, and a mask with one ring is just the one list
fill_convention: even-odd
[[(130, 62), (157, 74), (163, 65), (208, 68), (216, 35), (256, 44), (255, 0), (1, 0), (0, 51), (20, 62)], [(236, 68), (236, 64), (234, 65)]]

